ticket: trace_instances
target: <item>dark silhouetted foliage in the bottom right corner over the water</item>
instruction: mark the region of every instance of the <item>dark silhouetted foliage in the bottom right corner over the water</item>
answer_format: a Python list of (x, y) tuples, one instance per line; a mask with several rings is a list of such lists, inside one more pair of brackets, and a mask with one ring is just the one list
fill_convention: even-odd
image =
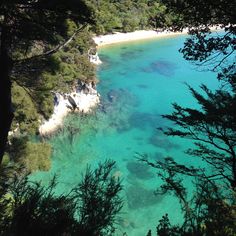
[[(234, 235), (236, 195), (232, 189), (225, 189), (224, 185), (216, 184), (214, 180), (199, 178), (195, 169), (184, 169), (184, 166), (177, 165), (170, 158), (156, 163), (143, 157), (141, 160), (157, 170), (158, 176), (163, 180), (157, 192), (173, 192), (179, 199), (184, 214), (184, 223), (181, 225), (172, 225), (168, 215), (163, 216), (157, 226), (158, 236)], [(195, 190), (191, 195), (183, 185), (184, 176), (189, 175), (195, 177)]]

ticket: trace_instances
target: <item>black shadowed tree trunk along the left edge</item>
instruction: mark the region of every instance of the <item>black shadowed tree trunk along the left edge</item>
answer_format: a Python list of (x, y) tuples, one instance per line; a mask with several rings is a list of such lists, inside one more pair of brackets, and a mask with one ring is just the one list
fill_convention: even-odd
[(8, 55), (8, 40), (7, 34), (2, 27), (0, 39), (0, 165), (13, 119), (10, 81), (12, 61)]

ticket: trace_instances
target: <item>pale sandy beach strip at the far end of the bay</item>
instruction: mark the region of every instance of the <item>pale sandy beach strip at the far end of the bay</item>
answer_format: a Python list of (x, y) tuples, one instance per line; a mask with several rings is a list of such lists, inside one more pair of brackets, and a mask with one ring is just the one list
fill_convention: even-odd
[[(211, 31), (217, 31), (218, 26), (210, 27)], [(128, 33), (115, 32), (114, 34), (97, 35), (93, 37), (94, 42), (97, 47), (108, 46), (112, 44), (118, 44), (123, 42), (132, 42), (145, 39), (158, 39), (164, 37), (174, 37), (178, 35), (188, 34), (188, 29), (183, 29), (183, 31), (172, 32), (169, 30), (155, 31), (155, 30), (137, 30)]]

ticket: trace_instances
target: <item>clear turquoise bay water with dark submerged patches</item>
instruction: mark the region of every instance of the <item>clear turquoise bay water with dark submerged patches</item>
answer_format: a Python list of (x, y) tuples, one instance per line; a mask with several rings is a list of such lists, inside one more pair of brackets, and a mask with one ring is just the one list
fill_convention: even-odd
[[(215, 89), (216, 74), (200, 72), (186, 62), (178, 49), (185, 36), (122, 43), (101, 48), (103, 64), (98, 68), (101, 106), (91, 115), (69, 116), (55, 137), (50, 172), (33, 178), (47, 184), (56, 173), (58, 192), (67, 192), (81, 179), (86, 166), (113, 159), (115, 175), (124, 186), (124, 208), (117, 219), (117, 235), (143, 236), (155, 232), (165, 213), (172, 223), (181, 222), (178, 201), (172, 195), (154, 195), (160, 185), (155, 171), (139, 163), (139, 154), (150, 160), (172, 156), (181, 163), (196, 163), (184, 150), (191, 143), (161, 134), (156, 128), (170, 126), (161, 117), (172, 111), (171, 104), (197, 107), (185, 83), (201, 83)], [(186, 180), (191, 192), (191, 182)]]

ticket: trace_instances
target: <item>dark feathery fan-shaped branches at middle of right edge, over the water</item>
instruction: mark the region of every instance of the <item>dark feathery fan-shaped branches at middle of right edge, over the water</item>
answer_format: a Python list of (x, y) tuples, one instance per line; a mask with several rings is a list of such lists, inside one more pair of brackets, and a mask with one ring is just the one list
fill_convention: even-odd
[[(183, 108), (174, 104), (171, 115), (165, 118), (173, 121), (177, 128), (169, 128), (164, 133), (194, 141), (196, 149), (188, 154), (201, 158), (208, 164), (208, 170), (201, 170), (199, 177), (224, 179), (232, 188), (236, 187), (236, 100), (227, 91), (215, 92), (202, 86), (204, 95), (190, 88), (200, 109)], [(211, 169), (209, 169), (211, 168)]]

